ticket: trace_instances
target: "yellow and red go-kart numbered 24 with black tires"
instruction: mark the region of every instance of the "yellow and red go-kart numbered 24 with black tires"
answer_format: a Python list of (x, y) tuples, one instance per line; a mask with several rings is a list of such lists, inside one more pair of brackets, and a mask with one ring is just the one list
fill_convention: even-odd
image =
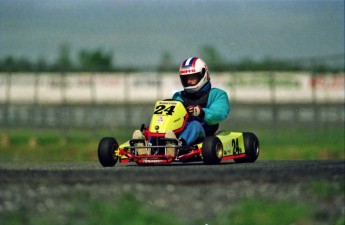
[(115, 138), (104, 137), (98, 145), (99, 162), (104, 167), (112, 167), (117, 162), (151, 165), (203, 161), (205, 164), (219, 164), (225, 160), (254, 162), (258, 158), (259, 140), (251, 132), (218, 131), (192, 146), (181, 146), (175, 138), (165, 138), (167, 131), (178, 136), (188, 118), (182, 102), (171, 99), (157, 101), (149, 127), (143, 124), (140, 129), (148, 142), (130, 139), (119, 146)]

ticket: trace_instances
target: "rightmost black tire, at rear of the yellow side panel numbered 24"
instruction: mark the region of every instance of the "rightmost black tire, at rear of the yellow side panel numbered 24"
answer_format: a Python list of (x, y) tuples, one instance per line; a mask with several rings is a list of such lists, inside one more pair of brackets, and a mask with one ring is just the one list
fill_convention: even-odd
[(260, 143), (259, 139), (255, 134), (250, 132), (243, 133), (244, 148), (246, 152), (246, 157), (234, 159), (237, 163), (252, 163), (257, 160), (260, 153)]

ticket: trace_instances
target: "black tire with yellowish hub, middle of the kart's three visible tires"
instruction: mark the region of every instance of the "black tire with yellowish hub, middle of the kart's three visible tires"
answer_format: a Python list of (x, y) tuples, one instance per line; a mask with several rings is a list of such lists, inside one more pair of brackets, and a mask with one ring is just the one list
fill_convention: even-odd
[(217, 136), (208, 136), (202, 144), (202, 157), (205, 164), (219, 164), (223, 158), (223, 144)]

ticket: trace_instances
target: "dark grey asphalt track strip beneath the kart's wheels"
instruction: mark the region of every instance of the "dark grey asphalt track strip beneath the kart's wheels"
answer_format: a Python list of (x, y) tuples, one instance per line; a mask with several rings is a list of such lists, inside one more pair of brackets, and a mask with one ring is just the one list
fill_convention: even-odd
[(305, 180), (339, 180), (344, 178), (344, 160), (257, 161), (220, 165), (173, 163), (138, 166), (134, 163), (103, 168), (98, 162), (2, 162), (2, 184), (39, 183), (155, 183), (176, 185), (224, 184), (239, 180), (291, 183)]

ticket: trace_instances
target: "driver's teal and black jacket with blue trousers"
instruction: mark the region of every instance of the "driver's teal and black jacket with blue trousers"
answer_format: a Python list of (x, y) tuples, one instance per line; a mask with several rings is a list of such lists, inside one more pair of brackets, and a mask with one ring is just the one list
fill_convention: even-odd
[(191, 116), (188, 118), (186, 127), (179, 134), (187, 145), (201, 142), (206, 136), (213, 135), (219, 123), (227, 118), (230, 112), (228, 95), (219, 88), (212, 88), (208, 82), (198, 92), (176, 92), (173, 99), (183, 102), (185, 107), (199, 105), (204, 111), (204, 116)]

